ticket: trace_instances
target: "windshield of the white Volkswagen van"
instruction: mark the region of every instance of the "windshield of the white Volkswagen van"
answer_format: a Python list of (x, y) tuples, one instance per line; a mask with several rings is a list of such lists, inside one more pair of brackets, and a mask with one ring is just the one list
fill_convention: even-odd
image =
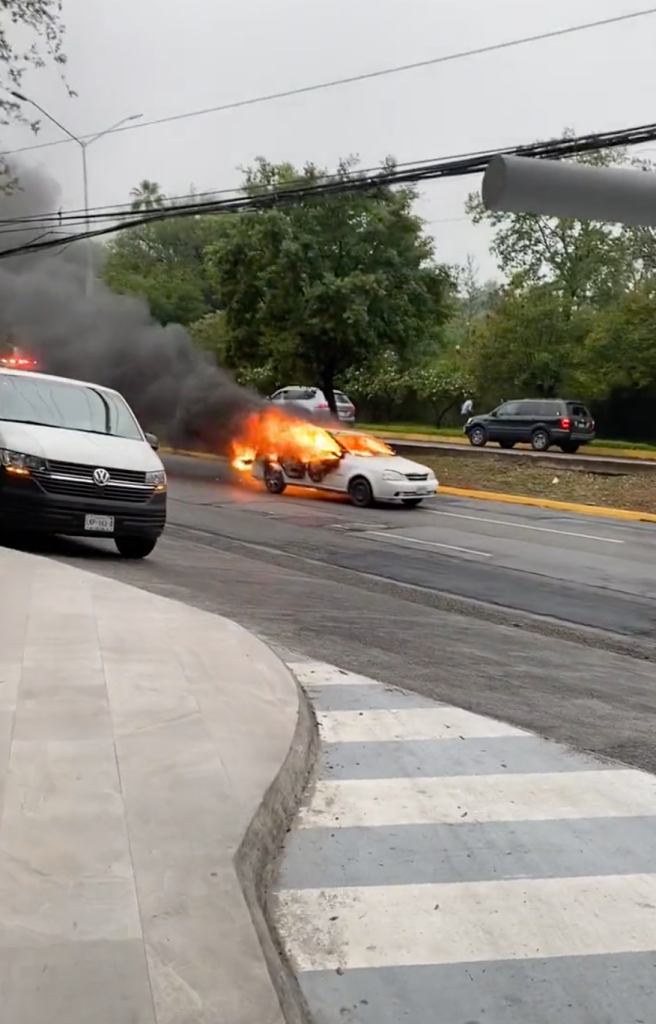
[(0, 421), (143, 440), (121, 395), (19, 374), (0, 374)]

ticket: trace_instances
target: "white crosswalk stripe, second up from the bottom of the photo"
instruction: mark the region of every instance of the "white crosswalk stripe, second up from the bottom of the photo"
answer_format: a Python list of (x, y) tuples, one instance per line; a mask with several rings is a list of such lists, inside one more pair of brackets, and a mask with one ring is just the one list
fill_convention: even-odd
[[(512, 743), (512, 740), (509, 740)], [(451, 778), (319, 779), (302, 828), (656, 815), (656, 778), (633, 769)]]

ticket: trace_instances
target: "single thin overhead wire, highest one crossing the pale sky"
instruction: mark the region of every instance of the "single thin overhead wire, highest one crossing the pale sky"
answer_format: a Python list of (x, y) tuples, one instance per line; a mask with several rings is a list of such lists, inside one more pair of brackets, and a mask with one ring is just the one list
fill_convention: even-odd
[[(419, 71), (422, 68), (432, 68), (437, 65), (449, 63), (454, 60), (465, 60), (467, 57), (483, 56), (486, 53), (497, 53), (502, 50), (510, 50), (519, 46), (527, 46), (531, 43), (540, 43), (551, 39), (560, 39), (565, 36), (572, 36), (575, 33), (589, 32), (593, 29), (603, 29), (611, 25), (619, 25), (622, 22), (631, 22), (641, 17), (648, 17), (656, 14), (656, 7), (648, 7), (643, 10), (629, 11), (625, 14), (616, 14), (614, 17), (599, 18), (595, 22), (584, 22), (581, 25), (572, 25), (566, 29), (554, 29), (551, 32), (540, 32), (532, 36), (522, 36), (518, 39), (508, 39), (500, 43), (490, 43), (487, 46), (477, 46), (469, 50), (458, 50), (454, 53), (444, 53), (438, 57), (431, 57), (427, 60), (416, 60), (412, 63), (397, 65), (392, 68), (382, 68), (378, 71), (363, 72), (360, 75), (350, 75), (345, 78), (332, 79), (327, 82), (315, 82), (312, 85), (299, 86), (296, 89), (285, 89), (279, 92), (269, 92), (260, 96), (251, 96), (248, 99), (237, 99), (228, 103), (220, 103), (216, 106), (206, 106), (201, 110), (186, 111), (183, 114), (172, 114), (164, 118), (154, 118), (150, 121), (139, 121), (134, 124), (123, 125), (115, 128), (107, 135), (117, 135), (125, 131), (140, 131), (142, 128), (152, 128), (158, 125), (172, 124), (175, 121), (188, 121), (191, 118), (205, 117), (208, 114), (222, 114), (225, 111), (236, 111), (245, 106), (256, 106), (260, 103), (270, 103), (278, 99), (289, 99), (293, 96), (303, 96), (311, 92), (322, 92), (326, 89), (335, 89), (343, 85), (355, 85), (358, 82), (367, 82), (377, 78), (386, 78), (389, 75), (400, 75), (408, 71)], [(80, 135), (81, 141), (93, 138), (97, 132), (89, 135)], [(19, 153), (30, 153), (34, 150), (46, 150), (54, 145), (70, 145), (70, 138), (55, 139), (52, 142), (35, 142), (34, 145), (24, 145), (17, 150), (9, 150), (0, 154), (3, 157), (11, 157)]]

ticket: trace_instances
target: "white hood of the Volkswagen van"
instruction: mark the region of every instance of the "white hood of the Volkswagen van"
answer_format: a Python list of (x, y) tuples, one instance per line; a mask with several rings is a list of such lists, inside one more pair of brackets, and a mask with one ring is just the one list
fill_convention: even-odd
[(89, 434), (28, 423), (0, 421), (0, 447), (58, 462), (75, 462), (103, 469), (162, 469), (162, 461), (147, 441), (108, 434)]

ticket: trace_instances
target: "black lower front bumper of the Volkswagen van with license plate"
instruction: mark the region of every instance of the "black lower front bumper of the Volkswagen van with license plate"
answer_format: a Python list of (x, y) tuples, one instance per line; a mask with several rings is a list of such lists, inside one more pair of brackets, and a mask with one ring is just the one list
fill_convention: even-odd
[[(112, 516), (114, 531), (86, 529), (87, 515)], [(65, 537), (157, 539), (164, 531), (166, 515), (166, 490), (154, 492), (148, 500), (140, 502), (51, 495), (32, 477), (13, 476), (0, 470), (0, 527), (4, 529)]]

